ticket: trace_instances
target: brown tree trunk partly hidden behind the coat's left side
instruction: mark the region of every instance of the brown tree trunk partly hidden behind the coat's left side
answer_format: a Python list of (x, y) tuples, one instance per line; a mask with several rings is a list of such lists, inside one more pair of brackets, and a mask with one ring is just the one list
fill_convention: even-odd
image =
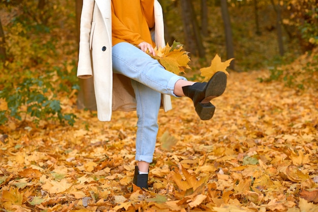
[[(76, 28), (77, 28), (77, 44), (79, 44), (80, 21), (82, 13), (83, 0), (76, 0)], [(77, 97), (77, 108), (97, 110), (93, 78), (79, 79), (80, 90)]]

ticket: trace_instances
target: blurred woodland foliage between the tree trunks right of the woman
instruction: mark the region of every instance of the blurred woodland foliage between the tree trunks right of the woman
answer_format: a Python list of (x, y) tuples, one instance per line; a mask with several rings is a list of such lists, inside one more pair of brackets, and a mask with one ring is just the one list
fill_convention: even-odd
[[(185, 43), (180, 3), (186, 0), (161, 0), (168, 28), (167, 41), (174, 39)], [(201, 1), (193, 2), (197, 20), (201, 22)], [(226, 38), (220, 0), (206, 1), (208, 8), (208, 34), (203, 36), (207, 61), (218, 53), (226, 58)], [(318, 45), (318, 7), (315, 0), (242, 0), (227, 1), (231, 19), (233, 45), (237, 71), (266, 68), (289, 63)], [(273, 5), (274, 4), (274, 5)], [(277, 44), (277, 12), (280, 6), (284, 54), (279, 54)], [(256, 9), (257, 8), (257, 9)], [(204, 27), (201, 26), (200, 27)], [(202, 28), (201, 28), (202, 30)]]

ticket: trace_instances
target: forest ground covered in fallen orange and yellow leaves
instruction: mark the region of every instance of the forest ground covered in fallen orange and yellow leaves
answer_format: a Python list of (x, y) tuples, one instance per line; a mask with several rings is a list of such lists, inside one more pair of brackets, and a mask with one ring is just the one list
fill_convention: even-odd
[(77, 111), (74, 127), (45, 121), (0, 128), (3, 211), (317, 211), (318, 96), (268, 70), (230, 73), (201, 121), (188, 98), (160, 112), (149, 191), (131, 192), (136, 114), (111, 122)]

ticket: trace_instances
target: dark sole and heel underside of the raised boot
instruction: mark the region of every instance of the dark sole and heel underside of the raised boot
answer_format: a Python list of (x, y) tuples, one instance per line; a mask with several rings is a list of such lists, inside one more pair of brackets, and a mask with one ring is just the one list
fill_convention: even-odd
[(205, 98), (195, 105), (201, 120), (209, 120), (213, 117), (215, 107), (210, 100), (222, 95), (226, 87), (227, 75), (224, 72), (216, 72), (206, 85)]

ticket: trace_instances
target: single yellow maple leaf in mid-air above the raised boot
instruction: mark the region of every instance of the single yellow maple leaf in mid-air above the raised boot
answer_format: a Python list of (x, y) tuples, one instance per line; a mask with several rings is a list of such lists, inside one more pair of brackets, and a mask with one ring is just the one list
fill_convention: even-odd
[(224, 72), (229, 76), (229, 73), (226, 69), (233, 59), (234, 58), (231, 58), (225, 62), (222, 62), (220, 56), (216, 54), (212, 59), (211, 65), (209, 67), (200, 68), (201, 76), (205, 77), (204, 80), (210, 79), (216, 72)]

